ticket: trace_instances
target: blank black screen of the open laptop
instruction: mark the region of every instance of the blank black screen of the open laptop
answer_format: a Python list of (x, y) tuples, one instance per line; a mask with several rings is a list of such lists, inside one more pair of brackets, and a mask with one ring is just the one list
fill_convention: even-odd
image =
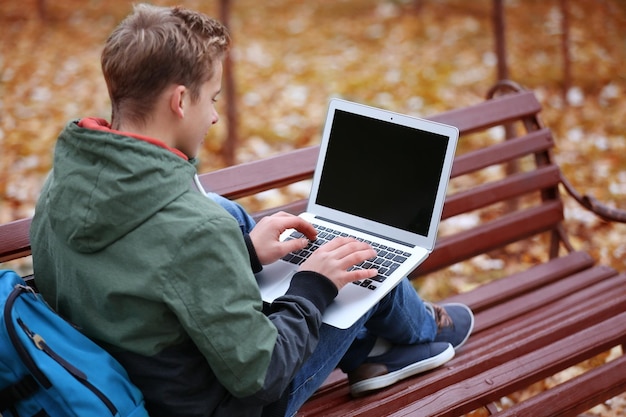
[(336, 109), (316, 203), (427, 236), (448, 140)]

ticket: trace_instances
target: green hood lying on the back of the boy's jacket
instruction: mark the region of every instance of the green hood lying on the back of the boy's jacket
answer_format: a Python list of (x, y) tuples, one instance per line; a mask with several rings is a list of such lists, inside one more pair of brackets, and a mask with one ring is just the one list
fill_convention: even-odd
[(194, 161), (158, 143), (70, 122), (48, 179), (55, 234), (79, 252), (96, 252), (188, 192)]

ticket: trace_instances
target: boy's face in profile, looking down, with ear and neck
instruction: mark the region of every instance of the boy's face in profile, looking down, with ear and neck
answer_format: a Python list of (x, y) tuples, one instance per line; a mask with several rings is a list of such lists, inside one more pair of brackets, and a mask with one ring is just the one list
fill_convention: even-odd
[(213, 77), (200, 88), (200, 98), (192, 102), (187, 93), (183, 128), (175, 139), (174, 147), (189, 158), (195, 158), (209, 128), (219, 121), (215, 108), (217, 96), (222, 89), (222, 63), (215, 64)]

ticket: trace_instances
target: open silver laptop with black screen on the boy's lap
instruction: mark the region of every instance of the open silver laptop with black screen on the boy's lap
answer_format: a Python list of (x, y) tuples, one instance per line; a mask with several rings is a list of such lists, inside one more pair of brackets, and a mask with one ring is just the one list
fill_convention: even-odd
[[(458, 136), (453, 126), (331, 99), (300, 214), (317, 228), (317, 241), (256, 274), (263, 301), (284, 295), (298, 265), (325, 240), (354, 236), (378, 253), (354, 268), (379, 273), (346, 285), (323, 315), (331, 326), (352, 326), (435, 247)], [(292, 229), (281, 240), (300, 236)]]

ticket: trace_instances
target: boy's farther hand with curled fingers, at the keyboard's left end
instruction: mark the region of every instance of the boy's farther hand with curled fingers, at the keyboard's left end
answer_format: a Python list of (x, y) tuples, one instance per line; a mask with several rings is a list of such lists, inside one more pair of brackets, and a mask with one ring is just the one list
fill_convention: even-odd
[[(280, 235), (287, 229), (296, 229), (306, 238), (281, 242)], [(289, 252), (302, 249), (309, 243), (309, 240), (316, 238), (317, 231), (311, 223), (302, 217), (282, 211), (262, 218), (250, 232), (250, 240), (262, 265), (271, 264)]]

